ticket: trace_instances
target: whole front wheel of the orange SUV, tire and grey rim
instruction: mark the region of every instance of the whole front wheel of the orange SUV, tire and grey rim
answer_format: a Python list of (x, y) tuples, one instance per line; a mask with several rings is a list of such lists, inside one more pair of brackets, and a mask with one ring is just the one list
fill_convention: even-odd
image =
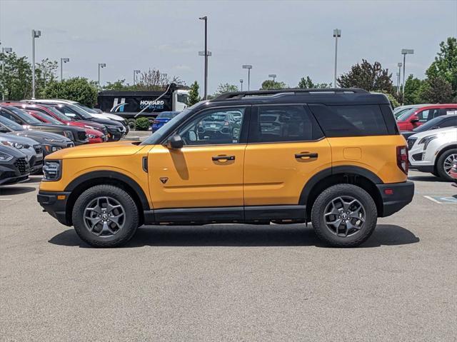
[(87, 189), (76, 200), (73, 225), (94, 247), (117, 247), (130, 240), (139, 225), (136, 204), (126, 191), (111, 185)]

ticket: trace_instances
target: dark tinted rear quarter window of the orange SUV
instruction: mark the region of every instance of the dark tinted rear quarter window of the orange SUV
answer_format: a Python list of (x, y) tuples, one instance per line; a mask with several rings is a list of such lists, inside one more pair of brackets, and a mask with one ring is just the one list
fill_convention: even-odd
[(389, 130), (377, 105), (309, 105), (327, 137), (383, 136)]

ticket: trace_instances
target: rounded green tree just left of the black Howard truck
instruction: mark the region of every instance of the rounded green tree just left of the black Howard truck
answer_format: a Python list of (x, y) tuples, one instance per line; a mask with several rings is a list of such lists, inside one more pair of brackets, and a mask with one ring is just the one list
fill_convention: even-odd
[(67, 99), (78, 101), (93, 107), (97, 101), (99, 90), (95, 81), (84, 77), (74, 77), (64, 81), (53, 81), (46, 84), (42, 96), (46, 99)]

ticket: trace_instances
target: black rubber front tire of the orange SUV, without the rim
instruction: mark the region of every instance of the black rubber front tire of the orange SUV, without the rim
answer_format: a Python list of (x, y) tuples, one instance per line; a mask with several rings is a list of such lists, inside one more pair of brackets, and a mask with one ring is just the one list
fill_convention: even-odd
[[(101, 237), (91, 233), (84, 223), (84, 209), (100, 196), (109, 196), (119, 201), (124, 207), (125, 222), (124, 226), (114, 236)], [(74, 229), (78, 236), (86, 243), (93, 247), (111, 248), (124, 245), (134, 236), (136, 228), (139, 226), (139, 211), (135, 201), (129, 193), (117, 186), (112, 185), (97, 185), (88, 188), (76, 199), (73, 211), (71, 213)]]

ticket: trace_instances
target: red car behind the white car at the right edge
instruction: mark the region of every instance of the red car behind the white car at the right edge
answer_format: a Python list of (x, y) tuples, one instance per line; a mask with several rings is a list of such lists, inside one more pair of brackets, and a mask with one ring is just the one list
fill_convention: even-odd
[(431, 104), (405, 111), (397, 118), (400, 131), (412, 131), (421, 124), (446, 114), (457, 114), (457, 104)]

